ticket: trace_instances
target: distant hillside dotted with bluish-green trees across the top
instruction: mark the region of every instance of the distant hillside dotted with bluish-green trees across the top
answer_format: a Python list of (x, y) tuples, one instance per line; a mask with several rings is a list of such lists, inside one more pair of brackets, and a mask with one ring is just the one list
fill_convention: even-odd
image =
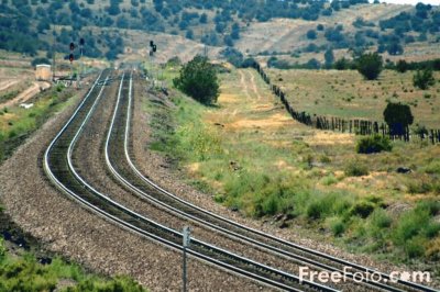
[(296, 56), (372, 46), (398, 55), (416, 41), (428, 47), (439, 42), (432, 29), (440, 27), (438, 8), (366, 2), (2, 0), (0, 48), (34, 55), (52, 50), (55, 41), (56, 50), (68, 54), (67, 45), (85, 37), (87, 56), (116, 59), (127, 47), (143, 54), (155, 37), (161, 58), (176, 54), (186, 59), (204, 50), (200, 44), (211, 47), (210, 55), (234, 46), (251, 55)]

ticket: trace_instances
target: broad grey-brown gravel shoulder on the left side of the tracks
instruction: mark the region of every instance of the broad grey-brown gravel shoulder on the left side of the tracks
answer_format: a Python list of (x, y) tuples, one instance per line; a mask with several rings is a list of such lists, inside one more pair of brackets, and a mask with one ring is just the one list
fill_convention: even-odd
[[(153, 291), (179, 290), (180, 252), (86, 211), (45, 178), (41, 168), (43, 151), (75, 110), (79, 97), (82, 94), (45, 123), (0, 167), (1, 203), (24, 232), (51, 251), (99, 273), (129, 274)], [(250, 291), (267, 290), (193, 258), (188, 261), (188, 279), (194, 291), (237, 291), (242, 287)]]

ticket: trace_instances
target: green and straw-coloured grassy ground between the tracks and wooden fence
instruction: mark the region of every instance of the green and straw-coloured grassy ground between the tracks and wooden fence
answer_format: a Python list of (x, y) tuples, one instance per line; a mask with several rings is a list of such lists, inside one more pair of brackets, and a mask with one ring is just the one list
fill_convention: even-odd
[(152, 149), (178, 158), (191, 182), (244, 215), (284, 214), (284, 227), (295, 222), (395, 260), (439, 259), (438, 146), (397, 142), (391, 153), (359, 155), (356, 137), (293, 121), (254, 71), (220, 77), (218, 106), (180, 93), (175, 109), (146, 101)]

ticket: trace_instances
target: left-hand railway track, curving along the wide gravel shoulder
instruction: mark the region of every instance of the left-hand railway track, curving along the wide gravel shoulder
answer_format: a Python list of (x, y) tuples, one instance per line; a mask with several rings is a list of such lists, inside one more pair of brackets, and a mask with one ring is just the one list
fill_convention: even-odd
[[(160, 225), (100, 193), (81, 178), (74, 168), (72, 156), (75, 145), (99, 104), (105, 90), (101, 85), (107, 85), (110, 79), (114, 79), (114, 77), (110, 70), (106, 70), (95, 81), (73, 116), (47, 147), (43, 160), (44, 170), (59, 190), (80, 202), (90, 211), (123, 228), (180, 250), (183, 248), (183, 235), (179, 232)], [(129, 79), (123, 75), (120, 81), (117, 108), (123, 96), (122, 93), (131, 92), (131, 78)], [(117, 111), (112, 119), (112, 125), (116, 120)], [(109, 131), (108, 135), (111, 136), (111, 133), (112, 130)], [(294, 274), (249, 260), (201, 240), (191, 240), (187, 252), (202, 261), (280, 290), (337, 291), (315, 282), (300, 281)]]

